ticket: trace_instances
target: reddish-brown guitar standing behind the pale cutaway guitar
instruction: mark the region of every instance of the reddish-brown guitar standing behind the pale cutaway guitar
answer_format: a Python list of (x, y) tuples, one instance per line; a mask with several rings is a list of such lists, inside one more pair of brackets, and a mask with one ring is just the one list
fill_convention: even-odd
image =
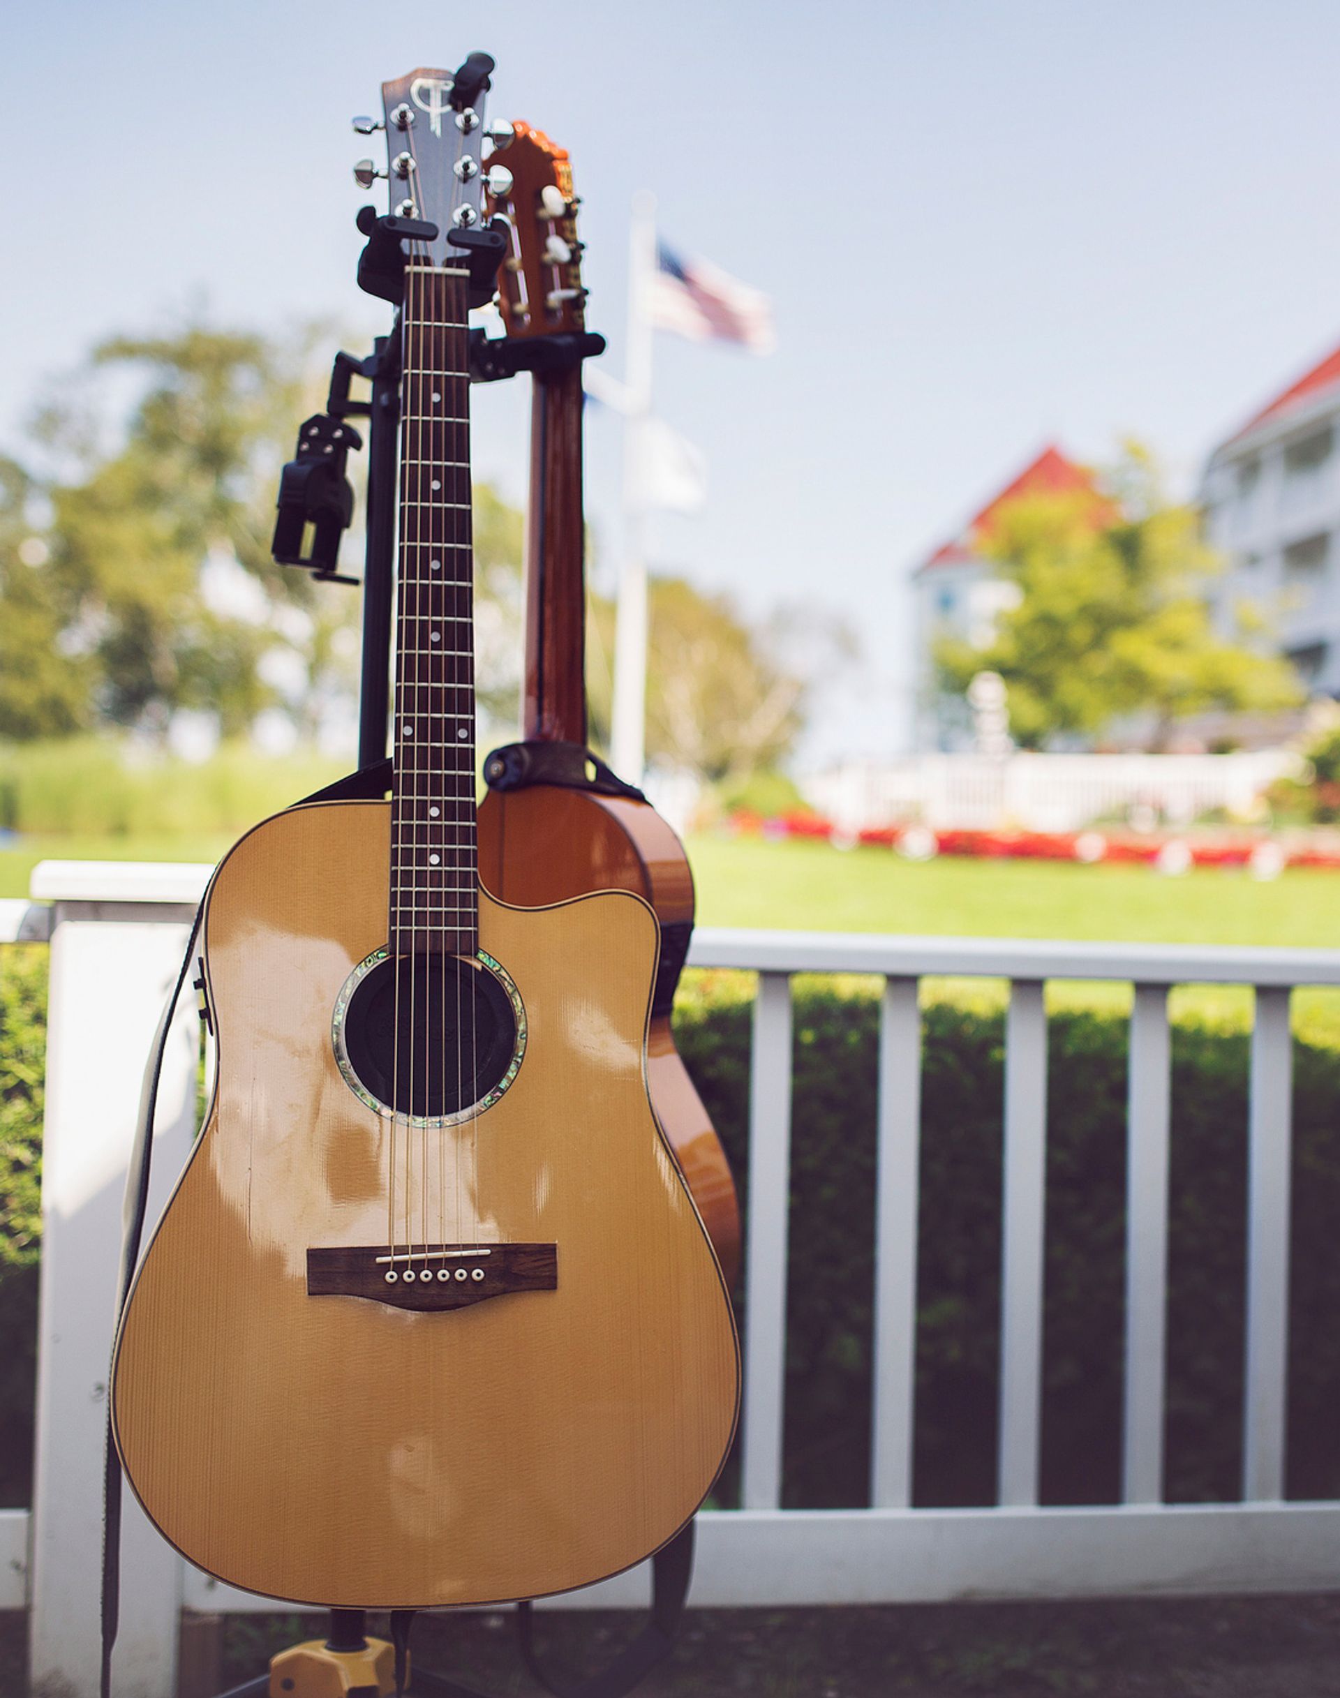
[[(576, 353), (586, 328), (577, 202), (566, 148), (515, 126), (511, 183), (491, 195), (513, 231), (498, 273), (510, 338), (552, 358), (533, 377), (526, 508), (526, 659), (523, 737), (486, 764), (479, 874), (504, 902), (562, 902), (632, 890), (661, 924), (647, 1043), (652, 1107), (703, 1216), (727, 1282), (740, 1253), (740, 1212), (720, 1139), (674, 1048), (671, 1009), (693, 932), (693, 873), (674, 830), (637, 793), (586, 778), (586, 584), (583, 523), (583, 389)], [(562, 781), (545, 783), (554, 774)]]

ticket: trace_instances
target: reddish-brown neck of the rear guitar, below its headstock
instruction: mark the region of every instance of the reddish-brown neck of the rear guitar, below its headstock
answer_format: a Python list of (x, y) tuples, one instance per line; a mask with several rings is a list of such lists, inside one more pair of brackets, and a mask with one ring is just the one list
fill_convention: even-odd
[(535, 377), (526, 520), (523, 735), (586, 742), (581, 367)]

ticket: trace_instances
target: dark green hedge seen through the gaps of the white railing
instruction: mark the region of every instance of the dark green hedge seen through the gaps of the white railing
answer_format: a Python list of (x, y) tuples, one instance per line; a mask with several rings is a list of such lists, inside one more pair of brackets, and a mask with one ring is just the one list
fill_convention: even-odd
[[(25, 1503), (37, 1258), (46, 951), (0, 951), (0, 1503)], [(749, 990), (691, 975), (679, 1048), (747, 1202)], [(878, 1004), (802, 980), (785, 1503), (866, 1501)], [(1167, 1491), (1236, 1496), (1241, 1423), (1247, 1060), (1240, 1032), (1174, 1029)], [(915, 1501), (995, 1494), (1004, 1022), (926, 1010)], [(1118, 1498), (1126, 1022), (1050, 1020), (1043, 1498)], [(1289, 1474), (1340, 1496), (1340, 1051), (1294, 1046)], [(718, 1499), (732, 1501), (734, 1469)]]

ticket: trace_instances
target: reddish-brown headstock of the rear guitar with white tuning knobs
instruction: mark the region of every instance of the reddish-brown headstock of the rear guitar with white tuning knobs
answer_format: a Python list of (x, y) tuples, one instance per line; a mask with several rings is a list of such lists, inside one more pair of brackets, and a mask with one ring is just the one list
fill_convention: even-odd
[(510, 182), (494, 188), (489, 171), (487, 195), (487, 211), (511, 226), (510, 251), (498, 268), (503, 324), (508, 336), (579, 333), (586, 328), (586, 290), (567, 148), (530, 124), (513, 124), (506, 149), (501, 175)]

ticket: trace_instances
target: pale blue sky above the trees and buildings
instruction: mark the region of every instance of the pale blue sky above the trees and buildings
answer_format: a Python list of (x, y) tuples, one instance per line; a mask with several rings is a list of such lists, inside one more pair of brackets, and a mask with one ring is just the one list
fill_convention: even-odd
[[(206, 302), (358, 346), (348, 129), (416, 65), (498, 59), (491, 112), (572, 153), (589, 321), (618, 374), (628, 204), (776, 302), (778, 353), (657, 338), (657, 408), (712, 496), (659, 564), (751, 610), (810, 601), (864, 662), (820, 744), (890, 749), (905, 574), (1046, 440), (1204, 452), (1340, 338), (1340, 7), (1315, 0), (56, 0), (0, 36), (8, 160), (0, 440), (112, 329)], [(374, 138), (375, 139), (375, 138)], [(525, 487), (525, 391), (477, 402)], [(613, 569), (618, 443), (589, 426)], [(858, 706), (859, 703), (859, 706)]]

